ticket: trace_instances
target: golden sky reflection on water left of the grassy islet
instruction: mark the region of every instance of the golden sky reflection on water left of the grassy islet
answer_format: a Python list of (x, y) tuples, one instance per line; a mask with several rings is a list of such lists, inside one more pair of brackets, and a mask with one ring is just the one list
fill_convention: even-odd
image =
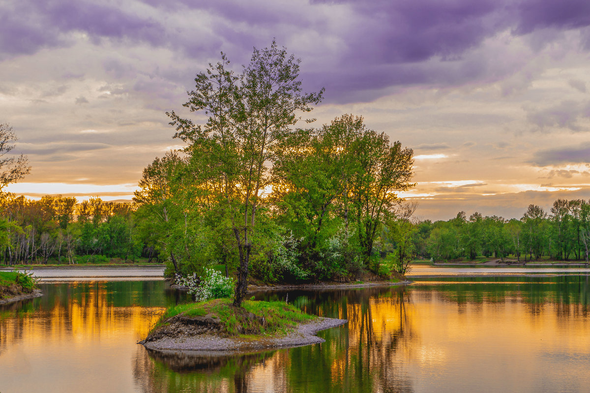
[[(78, 285), (87, 286), (80, 296)], [(165, 308), (116, 307), (100, 282), (70, 288), (30, 311), (2, 312), (0, 391), (134, 390), (127, 353)]]

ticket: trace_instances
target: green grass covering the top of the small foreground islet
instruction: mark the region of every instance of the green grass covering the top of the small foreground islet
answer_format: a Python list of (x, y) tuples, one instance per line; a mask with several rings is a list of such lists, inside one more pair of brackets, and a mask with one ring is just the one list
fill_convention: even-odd
[[(220, 333), (230, 336), (286, 334), (297, 323), (316, 318), (284, 302), (244, 300), (242, 308), (235, 308), (231, 299), (215, 299), (169, 308), (156, 322), (152, 331), (167, 325), (169, 318), (179, 314), (189, 317), (209, 315), (213, 319), (218, 319), (221, 325)], [(252, 314), (256, 318), (251, 318)], [(261, 318), (264, 318), (264, 323), (261, 322)]]

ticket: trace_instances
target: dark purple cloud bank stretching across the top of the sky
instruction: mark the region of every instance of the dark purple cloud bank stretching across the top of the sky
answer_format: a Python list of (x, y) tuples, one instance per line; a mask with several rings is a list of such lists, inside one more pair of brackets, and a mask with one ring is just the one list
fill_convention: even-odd
[[(501, 66), (470, 56), (471, 49), (500, 32), (519, 36), (590, 25), (590, 2), (583, 0), (312, 0), (307, 5), (144, 0), (141, 6), (123, 5), (91, 0), (3, 3), (0, 53), (8, 57), (70, 45), (72, 32), (84, 32), (95, 45), (105, 39), (142, 43), (172, 49), (185, 60), (216, 61), (223, 49), (241, 64), (253, 46), (264, 47), (277, 37), (280, 44), (301, 42), (299, 49), (289, 50), (303, 58), (309, 90), (325, 86), (328, 101), (348, 103), (375, 100), (398, 86), (500, 80), (518, 62)], [(182, 20), (186, 23), (177, 23)], [(312, 33), (313, 38), (306, 38), (309, 44), (300, 41), (301, 34)], [(512, 59), (507, 60), (510, 64)], [(114, 75), (126, 73), (113, 62), (105, 67)]]

